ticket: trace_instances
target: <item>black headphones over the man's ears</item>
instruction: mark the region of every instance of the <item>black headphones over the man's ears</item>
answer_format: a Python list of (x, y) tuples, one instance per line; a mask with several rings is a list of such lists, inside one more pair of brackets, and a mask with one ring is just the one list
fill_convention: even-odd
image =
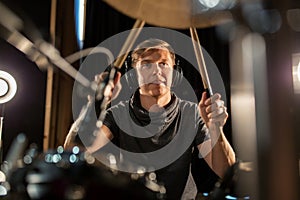
[[(137, 80), (136, 70), (132, 67), (131, 62), (132, 62), (131, 56), (129, 55), (127, 56), (124, 62), (125, 64), (124, 76), (128, 87), (131, 90), (135, 90), (136, 88), (139, 87), (139, 84)], [(183, 79), (183, 71), (182, 68), (179, 66), (179, 62), (180, 60), (175, 58), (176, 64), (173, 66), (172, 85), (171, 85), (172, 88), (178, 86)]]

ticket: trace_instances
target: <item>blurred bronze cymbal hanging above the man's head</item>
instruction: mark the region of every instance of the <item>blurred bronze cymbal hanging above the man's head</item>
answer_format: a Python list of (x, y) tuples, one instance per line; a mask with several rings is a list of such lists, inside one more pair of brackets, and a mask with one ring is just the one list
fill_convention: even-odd
[[(226, 10), (204, 10), (197, 0), (104, 0), (114, 9), (146, 23), (174, 28), (206, 28), (232, 20)], [(200, 5), (199, 5), (200, 4)]]

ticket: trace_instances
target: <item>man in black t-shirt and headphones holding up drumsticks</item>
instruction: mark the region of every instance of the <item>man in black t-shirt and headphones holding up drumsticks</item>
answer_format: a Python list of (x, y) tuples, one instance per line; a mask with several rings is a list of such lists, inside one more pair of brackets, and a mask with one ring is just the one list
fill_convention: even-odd
[[(123, 160), (153, 167), (157, 180), (166, 187), (168, 199), (182, 197), (194, 147), (210, 168), (223, 177), (235, 163), (235, 153), (223, 133), (228, 113), (220, 95), (208, 98), (204, 92), (198, 105), (178, 98), (171, 91), (175, 53), (165, 41), (146, 40), (131, 57), (139, 88), (130, 100), (107, 110), (103, 126), (87, 151), (93, 153), (114, 138)], [(117, 74), (115, 82), (119, 80)], [(111, 98), (118, 90), (113, 88), (108, 91)], [(71, 132), (65, 147), (70, 144), (70, 135)], [(162, 153), (153, 159), (156, 152)]]

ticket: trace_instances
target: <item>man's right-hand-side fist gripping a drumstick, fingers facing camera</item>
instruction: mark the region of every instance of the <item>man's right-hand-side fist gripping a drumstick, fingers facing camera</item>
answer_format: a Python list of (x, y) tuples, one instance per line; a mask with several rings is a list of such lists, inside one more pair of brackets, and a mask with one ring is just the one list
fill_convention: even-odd
[(228, 113), (220, 94), (216, 93), (212, 97), (207, 98), (207, 93), (203, 92), (198, 106), (200, 115), (207, 127), (210, 127), (211, 123), (216, 122), (220, 123), (220, 126), (225, 125)]

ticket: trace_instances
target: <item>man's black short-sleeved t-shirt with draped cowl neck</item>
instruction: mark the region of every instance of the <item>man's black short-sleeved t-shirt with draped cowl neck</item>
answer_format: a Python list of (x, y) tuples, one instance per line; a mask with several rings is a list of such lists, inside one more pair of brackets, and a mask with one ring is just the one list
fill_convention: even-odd
[(103, 122), (117, 141), (130, 169), (155, 171), (168, 199), (180, 199), (188, 178), (192, 150), (209, 138), (197, 104), (172, 94), (162, 111), (149, 113), (137, 91), (129, 101), (107, 110)]

